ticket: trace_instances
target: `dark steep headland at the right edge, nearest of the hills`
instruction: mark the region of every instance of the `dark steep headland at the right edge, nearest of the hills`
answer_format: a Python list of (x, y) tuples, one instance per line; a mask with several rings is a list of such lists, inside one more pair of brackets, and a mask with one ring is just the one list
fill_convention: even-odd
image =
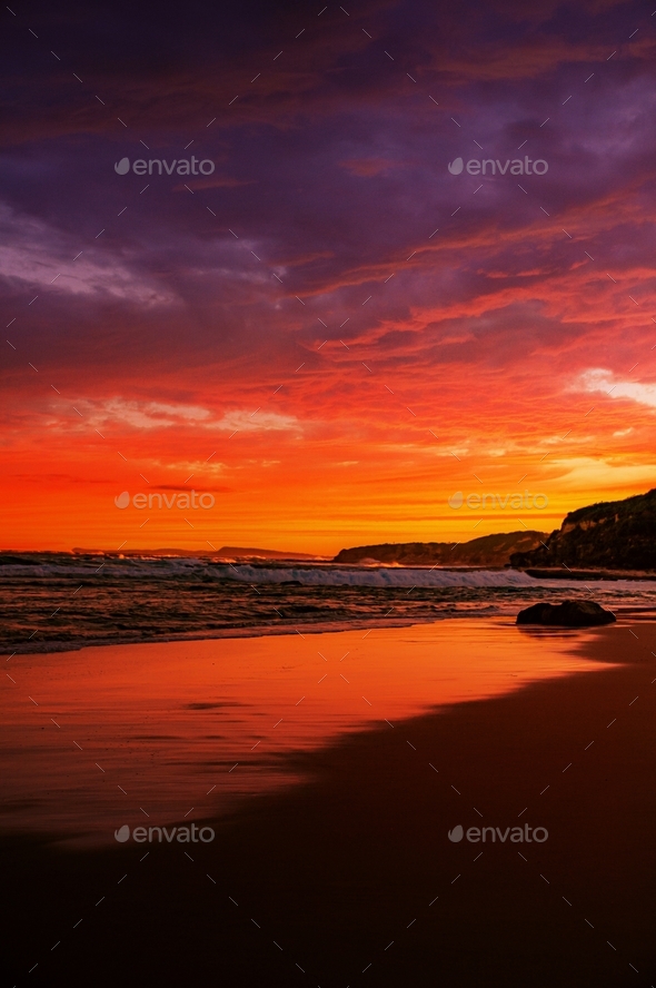
[(545, 545), (510, 556), (513, 566), (656, 570), (656, 490), (571, 511)]

